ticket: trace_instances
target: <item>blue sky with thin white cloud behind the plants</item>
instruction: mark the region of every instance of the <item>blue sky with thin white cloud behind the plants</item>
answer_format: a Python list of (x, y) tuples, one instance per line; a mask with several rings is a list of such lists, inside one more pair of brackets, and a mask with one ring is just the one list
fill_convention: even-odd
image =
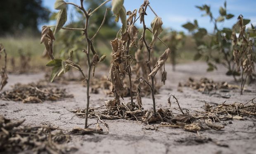
[[(66, 0), (66, 2), (74, 2), (80, 4), (80, 0)], [(124, 6), (126, 11), (138, 9), (144, 0), (124, 0)], [(211, 11), (214, 17), (218, 17), (219, 7), (223, 6), (225, 0), (149, 0), (151, 7), (154, 9), (156, 14), (162, 18), (165, 28), (172, 28), (174, 30), (186, 30), (181, 26), (187, 21), (193, 22), (197, 19), (200, 27), (206, 28), (209, 32), (213, 30), (213, 25), (210, 23), (208, 16), (202, 17), (202, 11), (197, 9), (196, 5), (210, 5)], [(55, 0), (43, 0), (43, 5), (49, 8), (52, 12), (57, 12), (54, 9)], [(109, 2), (110, 4), (111, 2)], [(73, 6), (70, 6), (71, 9)], [(239, 14), (242, 14), (244, 18), (251, 19), (251, 23), (256, 25), (256, 0), (227, 0), (227, 13), (234, 14), (235, 17), (220, 23), (219, 26), (229, 27), (237, 21)], [(148, 16), (145, 18), (147, 26), (150, 26), (151, 20), (154, 18), (154, 14), (147, 9)], [(114, 17), (113, 17), (114, 18)], [(68, 16), (68, 21), (70, 16)], [(45, 23), (53, 25), (54, 22)], [(139, 26), (139, 25), (137, 25)]]

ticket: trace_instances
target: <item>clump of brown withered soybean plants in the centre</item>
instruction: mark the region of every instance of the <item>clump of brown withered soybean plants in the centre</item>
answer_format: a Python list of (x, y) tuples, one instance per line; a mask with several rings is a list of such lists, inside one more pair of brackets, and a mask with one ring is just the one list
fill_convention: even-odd
[[(163, 41), (161, 41), (161, 39), (158, 38), (159, 34), (162, 32), (161, 26), (163, 22), (161, 21), (161, 18), (157, 16), (157, 14), (153, 11), (152, 7), (150, 7), (148, 0), (145, 0), (143, 4), (140, 6), (138, 11), (139, 12), (138, 17), (137, 17), (137, 9), (135, 9), (133, 12), (131, 11), (126, 12), (126, 9), (123, 6), (123, 2), (124, 0), (112, 1), (112, 11), (114, 15), (116, 15), (116, 21), (119, 21), (119, 18), (120, 18), (123, 25), (121, 29), (121, 39), (116, 37), (114, 41), (111, 41), (114, 60), (111, 63), (111, 67), (109, 71), (109, 80), (112, 83), (112, 92), (114, 92), (115, 94), (115, 99), (111, 101), (111, 103), (113, 103), (113, 105), (120, 104), (119, 98), (123, 97), (123, 89), (124, 89), (123, 77), (125, 74), (128, 74), (129, 76), (130, 97), (131, 97), (131, 102), (133, 102), (133, 94), (131, 92), (132, 83), (131, 83), (131, 67), (130, 67), (130, 64), (132, 63), (132, 60), (133, 60), (133, 56), (130, 55), (129, 51), (130, 51), (130, 47), (136, 46), (135, 42), (137, 40), (138, 29), (134, 26), (134, 24), (138, 19), (140, 19), (140, 23), (142, 23), (143, 25), (143, 32), (139, 40), (139, 48), (141, 50), (143, 46), (145, 46), (145, 48), (147, 49), (148, 59), (146, 61), (146, 64), (149, 70), (148, 80), (151, 80), (151, 83), (149, 83), (148, 80), (144, 78), (137, 79), (139, 83), (137, 85), (137, 90), (136, 90), (137, 91), (136, 101), (139, 108), (141, 108), (142, 101), (140, 96), (139, 85), (142, 81), (145, 81), (145, 83), (149, 85), (152, 91), (153, 108), (154, 108), (154, 113), (156, 113), (156, 105), (155, 105), (155, 97), (154, 97), (154, 77), (157, 71), (159, 71), (159, 69), (162, 66), (164, 66), (164, 63), (168, 59), (169, 53), (171, 53), (171, 50), (168, 48), (168, 46)], [(146, 10), (148, 7), (155, 14), (155, 18), (151, 23), (152, 30), (147, 28), (147, 26), (145, 25), (145, 15), (147, 15)], [(128, 15), (127, 19), (126, 19), (126, 15)], [(145, 39), (146, 30), (149, 30), (153, 34), (152, 41), (149, 45)], [(154, 65), (154, 69), (152, 69), (151, 68), (151, 65), (152, 65), (151, 50), (152, 50), (152, 46), (154, 45), (157, 39), (159, 39), (166, 46), (167, 49), (159, 57), (159, 60)], [(167, 72), (165, 71), (165, 68), (164, 68), (164, 72), (162, 74), (162, 81), (164, 83), (166, 80), (166, 75), (167, 75)]]

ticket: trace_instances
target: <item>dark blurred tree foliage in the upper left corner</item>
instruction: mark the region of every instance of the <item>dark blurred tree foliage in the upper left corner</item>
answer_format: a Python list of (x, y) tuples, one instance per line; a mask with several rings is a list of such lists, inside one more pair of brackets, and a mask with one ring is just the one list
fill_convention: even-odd
[(0, 34), (26, 29), (37, 32), (38, 24), (48, 21), (50, 14), (42, 0), (1, 0), (0, 10)]

